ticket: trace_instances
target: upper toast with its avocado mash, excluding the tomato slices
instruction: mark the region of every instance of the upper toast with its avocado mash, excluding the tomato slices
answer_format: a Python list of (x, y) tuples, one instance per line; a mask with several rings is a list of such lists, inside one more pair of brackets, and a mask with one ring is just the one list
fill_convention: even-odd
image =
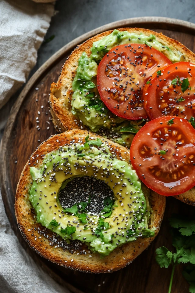
[[(147, 29), (121, 28), (90, 38), (72, 52), (62, 67), (58, 82), (51, 85), (51, 114), (59, 131), (90, 128), (104, 137), (130, 147), (135, 133), (148, 119), (127, 120), (111, 113), (99, 97), (99, 85), (96, 82), (96, 74), (103, 56), (117, 44), (129, 43), (144, 44), (144, 50), (147, 46), (150, 49), (155, 48), (171, 63), (195, 63), (194, 53), (184, 45)], [(166, 62), (165, 64), (167, 65)], [(194, 205), (194, 194), (194, 188), (191, 188), (175, 197)]]

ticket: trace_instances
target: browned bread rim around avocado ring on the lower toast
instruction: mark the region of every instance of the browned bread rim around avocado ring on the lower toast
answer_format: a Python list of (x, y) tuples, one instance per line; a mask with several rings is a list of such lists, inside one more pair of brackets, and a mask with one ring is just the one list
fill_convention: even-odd
[[(88, 255), (77, 255), (76, 253), (71, 254), (68, 250), (64, 250), (61, 247), (54, 248), (54, 246), (51, 246), (50, 239), (52, 238), (53, 233), (36, 222), (34, 209), (28, 200), (28, 189), (30, 188), (32, 182), (32, 178), (30, 176), (30, 166), (36, 164), (37, 154), (39, 155), (38, 164), (40, 165), (41, 161), (44, 159), (44, 154), (58, 149), (59, 146), (63, 146), (66, 143), (69, 143), (69, 141), (71, 141), (73, 138), (75, 139), (75, 142), (78, 142), (79, 138), (82, 137), (84, 139), (88, 134), (92, 135), (92, 133), (88, 131), (76, 129), (61, 133), (59, 135), (54, 135), (51, 136), (51, 138), (49, 138), (47, 141), (44, 141), (40, 147), (35, 150), (25, 165), (17, 185), (15, 214), (19, 229), (23, 234), (23, 237), (31, 246), (31, 248), (33, 248), (34, 251), (36, 251), (39, 255), (45, 257), (51, 262), (55, 262), (61, 266), (65, 266), (71, 269), (91, 273), (113, 272), (127, 266), (130, 262), (132, 262), (144, 249), (148, 247), (151, 241), (153, 241), (154, 237), (158, 234), (165, 211), (164, 196), (158, 195), (151, 191), (151, 195), (149, 197), (151, 208), (153, 210), (149, 227), (156, 227), (155, 236), (151, 238), (139, 238), (135, 242), (124, 244), (121, 247), (116, 248), (110, 255), (105, 256), (103, 259), (100, 259), (98, 253), (92, 254), (92, 258), (90, 258)], [(95, 134), (93, 134), (93, 136), (94, 135)], [(126, 148), (119, 146), (118, 144), (113, 143), (108, 139), (103, 139), (100, 136), (97, 137), (101, 138), (103, 141), (107, 141), (109, 145), (114, 147), (118, 159), (122, 156), (127, 162), (129, 162), (129, 154), (127, 154)], [(45, 234), (48, 235), (48, 238), (46, 238), (46, 236), (44, 237), (43, 235), (41, 235), (41, 238), (39, 238), (40, 233), (38, 232), (43, 229), (45, 229)], [(85, 244), (83, 245), (85, 246)]]

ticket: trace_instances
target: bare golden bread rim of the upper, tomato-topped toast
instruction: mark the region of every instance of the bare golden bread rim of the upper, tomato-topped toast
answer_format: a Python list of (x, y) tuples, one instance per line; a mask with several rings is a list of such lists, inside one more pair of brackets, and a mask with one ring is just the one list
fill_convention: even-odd
[[(180, 42), (166, 37), (161, 33), (151, 31), (144, 28), (119, 28), (119, 31), (129, 31), (130, 33), (143, 33), (145, 35), (154, 34), (156, 39), (165, 46), (171, 47), (174, 52), (178, 50), (183, 53), (185, 61), (195, 63), (195, 54), (186, 48)], [(53, 82), (51, 84), (51, 93), (50, 93), (50, 105), (51, 105), (51, 115), (53, 118), (53, 123), (55, 128), (59, 131), (66, 131), (70, 129), (87, 129), (87, 127), (80, 123), (80, 119), (74, 116), (71, 112), (71, 89), (72, 81), (75, 77), (76, 68), (78, 66), (78, 59), (80, 58), (83, 51), (85, 51), (88, 56), (90, 56), (90, 49), (93, 45), (93, 42), (96, 42), (112, 31), (105, 31), (101, 34), (98, 34), (81, 45), (78, 45), (76, 49), (71, 53), (67, 58), (64, 66), (62, 67), (59, 79), (57, 83)], [(195, 205), (195, 188), (175, 196), (179, 199), (190, 205)]]

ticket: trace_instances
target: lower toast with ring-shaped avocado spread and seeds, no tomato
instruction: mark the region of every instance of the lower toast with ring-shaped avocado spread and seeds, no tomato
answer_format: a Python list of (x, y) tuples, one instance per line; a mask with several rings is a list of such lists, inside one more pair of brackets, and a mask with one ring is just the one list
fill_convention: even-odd
[[(102, 210), (88, 212), (89, 196), (87, 204), (73, 202), (74, 210), (68, 203), (62, 207), (59, 194), (69, 184), (66, 178), (87, 173), (110, 186), (111, 209), (107, 199)], [(158, 234), (165, 197), (141, 186), (126, 148), (72, 130), (52, 136), (31, 155), (17, 186), (15, 210), (21, 233), (41, 256), (81, 271), (112, 272), (132, 262)]]

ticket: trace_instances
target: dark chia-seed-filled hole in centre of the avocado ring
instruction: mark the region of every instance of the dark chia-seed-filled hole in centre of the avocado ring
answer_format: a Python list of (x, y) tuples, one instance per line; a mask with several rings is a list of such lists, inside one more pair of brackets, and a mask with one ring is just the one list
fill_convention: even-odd
[(74, 177), (59, 192), (59, 202), (62, 208), (71, 208), (80, 202), (87, 202), (86, 212), (99, 214), (104, 208), (106, 197), (114, 199), (112, 189), (102, 180), (91, 176)]

